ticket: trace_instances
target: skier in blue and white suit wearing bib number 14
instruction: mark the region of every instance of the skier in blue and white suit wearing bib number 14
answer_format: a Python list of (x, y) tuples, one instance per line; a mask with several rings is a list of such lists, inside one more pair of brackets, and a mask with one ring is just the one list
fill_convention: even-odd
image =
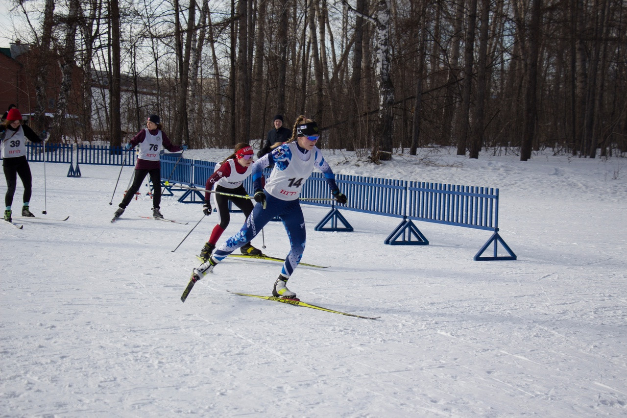
[[(192, 280), (198, 281), (234, 250), (250, 242), (272, 218), (280, 217), (290, 238), (290, 252), (285, 257), (281, 274), (272, 289), (273, 296), (296, 299), (296, 293), (287, 288), (305, 250), (305, 220), (298, 196), (307, 178), (319, 169), (324, 173), (332, 195), (338, 203), (346, 203), (347, 197), (335, 183), (335, 175), (315, 145), (320, 137), (318, 125), (300, 115), (294, 124), (292, 138), (284, 144), (277, 143), (272, 151), (258, 159), (252, 166), (257, 204), (240, 231), (220, 245), (209, 260), (194, 269)], [(265, 189), (261, 186), (262, 170), (271, 163), (275, 166)]]

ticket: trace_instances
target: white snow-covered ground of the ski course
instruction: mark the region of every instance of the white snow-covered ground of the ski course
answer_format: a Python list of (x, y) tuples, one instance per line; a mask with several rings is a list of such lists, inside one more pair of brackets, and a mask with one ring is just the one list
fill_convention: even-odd
[[(434, 223), (416, 223), (431, 245), (384, 245), (399, 219), (347, 210), (354, 232), (315, 232), (328, 209), (303, 205), (303, 262), (330, 267), (299, 267), (290, 289), (380, 319), (226, 292), (269, 294), (280, 264), (259, 260), (224, 260), (183, 304), (215, 218), (172, 252), (200, 205), (164, 196), (164, 215), (189, 224), (146, 220), (144, 187), (112, 224), (131, 168), (112, 198), (119, 167), (68, 178), (48, 163), (45, 196), (43, 163), (31, 163), (33, 213), (70, 218), (0, 225), (0, 415), (627, 415), (625, 159), (423, 150), (376, 166), (324, 153), (335, 173), (500, 188), (500, 233), (519, 259), (473, 261), (490, 232)], [(223, 238), (241, 223), (234, 213)], [(277, 222), (253, 244), (288, 249)]]

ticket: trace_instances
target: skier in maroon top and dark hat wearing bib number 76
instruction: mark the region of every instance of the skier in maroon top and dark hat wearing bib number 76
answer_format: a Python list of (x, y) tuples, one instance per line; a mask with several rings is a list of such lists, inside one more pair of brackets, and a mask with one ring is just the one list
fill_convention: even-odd
[(152, 217), (163, 218), (159, 211), (159, 205), (161, 204), (161, 160), (159, 151), (161, 151), (161, 146), (171, 153), (187, 149), (186, 145), (179, 147), (170, 142), (166, 132), (161, 130), (159, 115), (150, 115), (146, 122), (146, 128), (137, 132), (137, 135), (130, 140), (129, 144), (126, 144), (125, 148), (130, 149), (137, 145), (139, 145), (139, 157), (137, 157), (137, 164), (135, 164), (135, 178), (130, 189), (124, 195), (124, 199), (122, 199), (122, 203), (119, 205), (120, 207), (113, 214), (113, 220), (116, 220), (124, 213), (126, 206), (129, 205), (133, 196), (135, 196), (135, 192), (139, 190), (142, 181), (146, 178), (146, 174), (149, 174), (152, 186), (154, 186)]

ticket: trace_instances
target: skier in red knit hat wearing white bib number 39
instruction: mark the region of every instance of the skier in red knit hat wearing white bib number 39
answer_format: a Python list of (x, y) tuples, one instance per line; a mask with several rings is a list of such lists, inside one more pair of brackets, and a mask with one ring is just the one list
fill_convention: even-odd
[(18, 109), (10, 109), (6, 115), (6, 121), (0, 125), (0, 138), (2, 139), (3, 169), (6, 178), (6, 195), (4, 195), (4, 220), (12, 222), (11, 205), (13, 195), (18, 184), (18, 175), (24, 185), (24, 198), (22, 206), (23, 217), (34, 217), (30, 212), (29, 201), (33, 192), (33, 176), (26, 159), (26, 139), (31, 142), (42, 142), (46, 139), (46, 133), (37, 136), (33, 129), (22, 124), (22, 114)]

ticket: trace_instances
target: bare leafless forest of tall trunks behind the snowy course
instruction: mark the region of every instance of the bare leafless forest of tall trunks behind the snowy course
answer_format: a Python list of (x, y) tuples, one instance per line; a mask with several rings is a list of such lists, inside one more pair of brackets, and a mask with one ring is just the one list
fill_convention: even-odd
[(53, 142), (117, 146), (157, 113), (176, 143), (229, 147), (304, 114), (320, 147), (374, 162), (426, 146), (523, 161), (627, 151), (624, 0), (8, 4), (5, 36), (34, 68), (33, 124)]

